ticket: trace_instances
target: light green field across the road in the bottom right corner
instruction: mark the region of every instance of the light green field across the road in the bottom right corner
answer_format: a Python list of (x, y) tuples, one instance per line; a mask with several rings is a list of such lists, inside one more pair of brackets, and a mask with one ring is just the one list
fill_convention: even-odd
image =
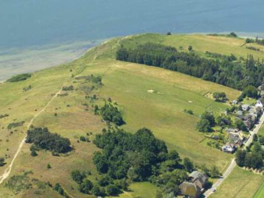
[(236, 167), (210, 198), (253, 198), (263, 181), (262, 175)]

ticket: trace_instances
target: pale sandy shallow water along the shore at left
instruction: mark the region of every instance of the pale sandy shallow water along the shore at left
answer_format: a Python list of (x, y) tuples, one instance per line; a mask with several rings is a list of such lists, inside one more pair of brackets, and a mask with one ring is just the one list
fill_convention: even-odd
[(0, 84), (14, 75), (37, 72), (74, 61), (100, 43), (101, 41), (96, 43), (84, 41), (49, 47), (14, 49), (8, 53), (2, 53), (0, 55)]

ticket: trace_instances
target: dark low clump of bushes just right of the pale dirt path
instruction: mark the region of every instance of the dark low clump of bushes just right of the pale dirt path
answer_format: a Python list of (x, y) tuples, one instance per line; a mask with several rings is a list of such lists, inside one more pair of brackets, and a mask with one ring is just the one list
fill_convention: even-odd
[(45, 149), (54, 153), (67, 153), (71, 150), (68, 138), (63, 138), (57, 133), (51, 133), (46, 127), (28, 130), (26, 143), (33, 143), (36, 149)]

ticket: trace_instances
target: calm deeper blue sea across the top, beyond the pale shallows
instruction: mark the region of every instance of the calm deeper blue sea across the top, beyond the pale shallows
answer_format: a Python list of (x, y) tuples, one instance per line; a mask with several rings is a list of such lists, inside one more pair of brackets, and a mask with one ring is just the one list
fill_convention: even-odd
[(0, 0), (0, 51), (168, 31), (263, 37), (264, 0)]

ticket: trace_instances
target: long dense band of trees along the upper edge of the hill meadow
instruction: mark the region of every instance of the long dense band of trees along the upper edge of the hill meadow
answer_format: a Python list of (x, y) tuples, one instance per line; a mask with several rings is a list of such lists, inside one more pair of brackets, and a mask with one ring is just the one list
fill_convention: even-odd
[(135, 48), (121, 46), (116, 59), (185, 73), (237, 90), (244, 90), (248, 85), (258, 87), (263, 83), (263, 60), (255, 61), (252, 55), (238, 59), (232, 54), (207, 54), (214, 57), (205, 58), (193, 50), (178, 52), (174, 47), (145, 43)]

